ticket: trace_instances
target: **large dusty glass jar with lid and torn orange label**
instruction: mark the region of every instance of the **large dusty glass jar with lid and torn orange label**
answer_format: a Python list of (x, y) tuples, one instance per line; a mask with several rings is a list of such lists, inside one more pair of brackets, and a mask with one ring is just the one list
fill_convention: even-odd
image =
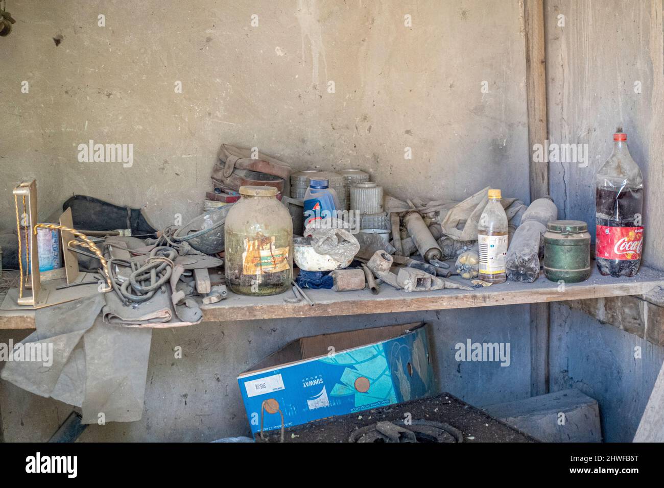
[(226, 284), (242, 295), (276, 295), (293, 280), (293, 220), (274, 187), (240, 187), (224, 224)]

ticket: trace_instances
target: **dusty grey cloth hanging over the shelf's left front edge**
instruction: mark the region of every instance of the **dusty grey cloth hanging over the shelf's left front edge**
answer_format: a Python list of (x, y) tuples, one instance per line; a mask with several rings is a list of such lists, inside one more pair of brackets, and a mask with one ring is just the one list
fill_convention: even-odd
[(52, 347), (52, 363), (9, 361), (0, 377), (37, 395), (82, 407), (83, 424), (140, 420), (152, 329), (104, 323), (104, 303), (104, 294), (94, 293), (36, 310), (37, 330), (21, 344), (39, 345), (42, 351)]

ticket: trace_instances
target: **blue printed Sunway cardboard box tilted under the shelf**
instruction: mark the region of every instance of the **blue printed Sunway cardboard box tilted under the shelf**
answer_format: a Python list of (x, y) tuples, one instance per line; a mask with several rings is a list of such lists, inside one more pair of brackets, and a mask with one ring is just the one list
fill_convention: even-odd
[(303, 337), (238, 376), (252, 434), (432, 392), (424, 323)]

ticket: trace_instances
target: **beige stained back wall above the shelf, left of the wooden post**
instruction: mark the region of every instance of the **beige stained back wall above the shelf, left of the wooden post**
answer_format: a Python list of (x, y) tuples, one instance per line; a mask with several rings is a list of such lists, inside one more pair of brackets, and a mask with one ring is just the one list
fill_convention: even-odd
[[(359, 167), (399, 197), (462, 199), (492, 185), (527, 199), (518, 0), (9, 4), (8, 208), (13, 186), (36, 178), (42, 219), (80, 193), (172, 224), (200, 212), (222, 142), (298, 169)], [(78, 162), (90, 139), (133, 144), (133, 166)], [(0, 227), (13, 225), (3, 212)]]

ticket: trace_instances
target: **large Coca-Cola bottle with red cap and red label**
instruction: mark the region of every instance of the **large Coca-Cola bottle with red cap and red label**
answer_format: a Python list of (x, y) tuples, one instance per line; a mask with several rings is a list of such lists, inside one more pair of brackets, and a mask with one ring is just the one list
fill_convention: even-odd
[(627, 134), (614, 134), (614, 151), (596, 176), (595, 258), (604, 276), (634, 276), (643, 250), (643, 177), (627, 149)]

